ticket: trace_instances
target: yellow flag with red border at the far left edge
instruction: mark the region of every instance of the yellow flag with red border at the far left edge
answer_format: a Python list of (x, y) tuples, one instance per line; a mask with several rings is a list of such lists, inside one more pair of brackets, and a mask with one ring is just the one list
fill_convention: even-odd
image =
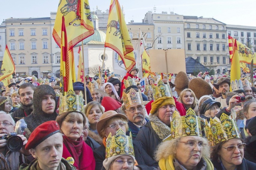
[[(0, 81), (2, 81), (3, 79), (7, 80), (7, 77), (8, 77), (8, 79), (12, 79), (12, 74), (14, 72), (15, 72), (15, 64), (11, 57), (8, 46), (6, 45), (5, 53), (4, 53), (4, 57), (3, 57), (3, 63), (2, 63), (1, 70), (0, 70)], [(9, 78), (9, 76), (11, 76), (11, 78)], [(3, 81), (3, 82), (4, 82), (5, 86), (8, 85), (8, 83), (6, 83), (7, 81)]]

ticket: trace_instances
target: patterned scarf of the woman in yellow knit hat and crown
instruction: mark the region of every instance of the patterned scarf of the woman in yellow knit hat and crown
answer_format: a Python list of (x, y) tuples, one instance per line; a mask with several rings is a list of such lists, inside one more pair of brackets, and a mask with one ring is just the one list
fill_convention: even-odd
[(150, 115), (150, 123), (160, 139), (163, 140), (171, 134), (171, 128), (164, 124), (156, 115)]

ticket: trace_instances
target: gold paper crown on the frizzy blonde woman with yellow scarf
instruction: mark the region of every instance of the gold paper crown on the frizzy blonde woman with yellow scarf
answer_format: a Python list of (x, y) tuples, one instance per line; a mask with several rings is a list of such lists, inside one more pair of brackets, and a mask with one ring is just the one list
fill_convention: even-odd
[(171, 135), (169, 139), (175, 139), (182, 136), (201, 136), (200, 118), (196, 112), (189, 108), (185, 116), (181, 116), (178, 112), (174, 112), (171, 121)]

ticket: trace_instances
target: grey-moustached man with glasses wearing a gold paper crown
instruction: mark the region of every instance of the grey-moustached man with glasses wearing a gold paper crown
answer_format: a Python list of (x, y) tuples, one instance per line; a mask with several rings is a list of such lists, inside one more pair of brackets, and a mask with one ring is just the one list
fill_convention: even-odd
[(133, 139), (135, 139), (140, 128), (149, 120), (145, 118), (146, 109), (143, 105), (141, 91), (138, 91), (136, 86), (132, 88), (133, 86), (135, 85), (126, 88), (126, 93), (123, 92), (123, 110), (128, 118), (129, 128), (126, 135), (129, 135), (131, 132)]

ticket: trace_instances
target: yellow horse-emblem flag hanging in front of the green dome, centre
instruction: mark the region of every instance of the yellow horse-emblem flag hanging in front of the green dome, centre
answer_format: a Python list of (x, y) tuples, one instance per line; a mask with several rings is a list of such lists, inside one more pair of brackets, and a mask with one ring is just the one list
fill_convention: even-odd
[(128, 73), (132, 70), (135, 65), (133, 45), (118, 0), (111, 0), (105, 47), (117, 52)]

